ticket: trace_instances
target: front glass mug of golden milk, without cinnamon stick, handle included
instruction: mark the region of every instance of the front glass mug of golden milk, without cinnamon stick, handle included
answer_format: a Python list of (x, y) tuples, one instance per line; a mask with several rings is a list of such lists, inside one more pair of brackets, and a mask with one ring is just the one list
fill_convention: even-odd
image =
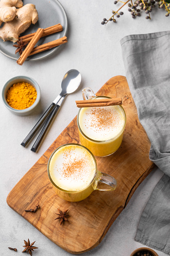
[(97, 170), (94, 155), (79, 144), (57, 148), (48, 162), (48, 176), (56, 194), (70, 202), (87, 198), (94, 190), (113, 191), (116, 180)]

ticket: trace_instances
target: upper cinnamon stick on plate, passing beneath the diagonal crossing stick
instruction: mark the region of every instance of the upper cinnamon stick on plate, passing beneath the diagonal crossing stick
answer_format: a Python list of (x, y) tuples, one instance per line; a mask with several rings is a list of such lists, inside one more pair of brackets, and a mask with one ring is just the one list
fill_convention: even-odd
[[(48, 27), (48, 28), (44, 29), (44, 33), (43, 33), (42, 37), (52, 35), (54, 33), (60, 32), (62, 30), (63, 30), (62, 25), (60, 23), (56, 24), (54, 26), (51, 26), (51, 27)], [(19, 40), (22, 39), (23, 43), (30, 42), (34, 35), (35, 35), (35, 33), (28, 34), (28, 35), (25, 35), (25, 36), (21, 36), (21, 37), (19, 37)]]

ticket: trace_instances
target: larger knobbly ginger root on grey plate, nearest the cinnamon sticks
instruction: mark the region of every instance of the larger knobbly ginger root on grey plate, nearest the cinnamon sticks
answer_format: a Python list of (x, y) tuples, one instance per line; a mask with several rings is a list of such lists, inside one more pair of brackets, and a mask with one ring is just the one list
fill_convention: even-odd
[(38, 12), (35, 5), (27, 4), (20, 9), (17, 9), (17, 17), (0, 29), (0, 38), (4, 41), (13, 41), (14, 43), (19, 40), (19, 36), (31, 23), (36, 24), (38, 21)]

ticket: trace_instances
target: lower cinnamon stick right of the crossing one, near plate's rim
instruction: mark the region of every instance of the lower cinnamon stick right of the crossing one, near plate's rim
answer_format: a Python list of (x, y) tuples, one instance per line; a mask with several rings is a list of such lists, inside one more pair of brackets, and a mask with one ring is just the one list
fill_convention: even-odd
[(54, 47), (59, 46), (59, 45), (64, 44), (64, 43), (67, 43), (67, 37), (66, 36), (61, 37), (57, 40), (51, 41), (49, 43), (42, 44), (42, 45), (39, 45), (39, 46), (35, 47), (32, 50), (32, 52), (30, 53), (29, 56), (31, 56), (33, 54), (36, 54), (36, 53), (39, 53), (39, 52), (42, 52), (42, 51), (49, 50), (51, 48), (54, 48)]

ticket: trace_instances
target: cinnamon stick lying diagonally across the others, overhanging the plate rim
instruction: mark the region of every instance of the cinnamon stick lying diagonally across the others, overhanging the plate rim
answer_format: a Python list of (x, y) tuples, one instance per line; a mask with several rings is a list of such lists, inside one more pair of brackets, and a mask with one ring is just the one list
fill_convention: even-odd
[(21, 54), (20, 58), (17, 60), (17, 63), (19, 65), (23, 65), (24, 61), (27, 59), (27, 57), (30, 55), (31, 51), (39, 41), (39, 39), (42, 37), (44, 33), (44, 29), (38, 29), (29, 44), (27, 45), (26, 49)]

